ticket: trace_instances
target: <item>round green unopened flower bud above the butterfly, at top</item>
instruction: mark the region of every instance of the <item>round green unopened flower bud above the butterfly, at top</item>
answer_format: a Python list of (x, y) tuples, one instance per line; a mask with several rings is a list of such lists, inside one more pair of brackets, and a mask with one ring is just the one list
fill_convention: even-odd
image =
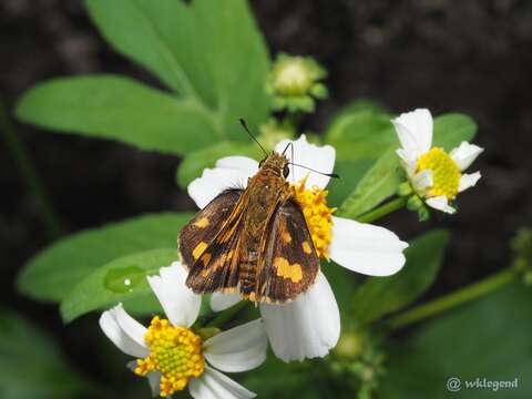
[(326, 70), (310, 57), (280, 53), (266, 83), (267, 92), (273, 95), (274, 110), (313, 112), (315, 101), (328, 95), (327, 88), (320, 82), (326, 75)]

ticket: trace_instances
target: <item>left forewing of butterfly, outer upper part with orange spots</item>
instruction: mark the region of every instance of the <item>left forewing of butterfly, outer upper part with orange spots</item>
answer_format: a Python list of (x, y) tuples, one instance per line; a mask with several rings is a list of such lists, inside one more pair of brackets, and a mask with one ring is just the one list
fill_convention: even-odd
[(190, 270), (221, 233), (235, 211), (242, 190), (227, 190), (200, 211), (180, 233), (181, 260)]

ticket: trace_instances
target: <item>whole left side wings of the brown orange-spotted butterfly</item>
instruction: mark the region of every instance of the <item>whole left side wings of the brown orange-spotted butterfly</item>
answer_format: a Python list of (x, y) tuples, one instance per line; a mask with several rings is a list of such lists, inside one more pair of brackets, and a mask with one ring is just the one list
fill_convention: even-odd
[(238, 284), (242, 190), (219, 194), (181, 232), (181, 258), (188, 268), (186, 285), (195, 293), (232, 290)]

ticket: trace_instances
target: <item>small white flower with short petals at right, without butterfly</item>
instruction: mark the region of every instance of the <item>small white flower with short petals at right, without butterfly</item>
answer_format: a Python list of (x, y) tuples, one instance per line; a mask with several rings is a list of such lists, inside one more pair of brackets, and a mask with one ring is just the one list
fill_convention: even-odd
[(402, 149), (397, 150), (416, 193), (430, 207), (449, 214), (458, 193), (477, 184), (480, 172), (462, 173), (483, 149), (462, 142), (449, 154), (432, 146), (432, 115), (429, 110), (407, 112), (391, 121)]

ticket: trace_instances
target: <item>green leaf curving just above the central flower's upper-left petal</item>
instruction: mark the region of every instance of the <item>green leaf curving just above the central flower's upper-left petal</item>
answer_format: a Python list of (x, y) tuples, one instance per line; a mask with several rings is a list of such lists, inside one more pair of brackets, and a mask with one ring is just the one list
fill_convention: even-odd
[(260, 150), (255, 143), (219, 142), (214, 145), (194, 151), (185, 156), (177, 170), (177, 183), (186, 186), (202, 175), (203, 170), (213, 167), (217, 160), (224, 156), (243, 155), (252, 158), (260, 157)]

